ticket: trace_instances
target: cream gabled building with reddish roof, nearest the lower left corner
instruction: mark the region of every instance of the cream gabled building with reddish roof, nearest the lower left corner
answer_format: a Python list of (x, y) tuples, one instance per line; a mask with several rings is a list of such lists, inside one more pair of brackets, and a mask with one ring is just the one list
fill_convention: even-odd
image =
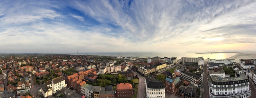
[(27, 93), (29, 91), (30, 91), (29, 81), (18, 82), (18, 84), (17, 84), (17, 94)]

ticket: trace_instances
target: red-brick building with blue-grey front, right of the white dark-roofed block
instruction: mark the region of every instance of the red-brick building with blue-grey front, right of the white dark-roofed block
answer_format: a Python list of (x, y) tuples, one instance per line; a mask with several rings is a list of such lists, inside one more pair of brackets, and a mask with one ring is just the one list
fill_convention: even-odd
[(175, 75), (175, 73), (170, 74), (165, 78), (165, 91), (173, 93), (175, 89), (179, 86), (180, 79)]

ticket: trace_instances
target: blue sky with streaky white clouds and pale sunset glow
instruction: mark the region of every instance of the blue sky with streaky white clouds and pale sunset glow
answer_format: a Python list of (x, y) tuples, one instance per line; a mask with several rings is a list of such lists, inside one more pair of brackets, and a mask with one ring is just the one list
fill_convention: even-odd
[(254, 51), (256, 0), (0, 0), (0, 53)]

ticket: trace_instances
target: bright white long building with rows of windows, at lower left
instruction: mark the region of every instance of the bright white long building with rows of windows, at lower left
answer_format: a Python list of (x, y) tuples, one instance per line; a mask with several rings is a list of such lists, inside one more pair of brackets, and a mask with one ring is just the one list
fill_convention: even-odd
[(50, 87), (53, 93), (56, 93), (63, 87), (66, 87), (67, 84), (65, 83), (65, 78), (63, 76), (59, 76), (46, 82), (46, 86)]

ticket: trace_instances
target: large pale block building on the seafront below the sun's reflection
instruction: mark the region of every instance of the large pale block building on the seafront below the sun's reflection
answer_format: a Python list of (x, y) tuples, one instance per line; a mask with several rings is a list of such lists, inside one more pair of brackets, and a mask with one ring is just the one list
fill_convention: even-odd
[(198, 57), (198, 58), (187, 58), (187, 57), (182, 57), (181, 58), (182, 65), (204, 65), (204, 58), (203, 57)]

